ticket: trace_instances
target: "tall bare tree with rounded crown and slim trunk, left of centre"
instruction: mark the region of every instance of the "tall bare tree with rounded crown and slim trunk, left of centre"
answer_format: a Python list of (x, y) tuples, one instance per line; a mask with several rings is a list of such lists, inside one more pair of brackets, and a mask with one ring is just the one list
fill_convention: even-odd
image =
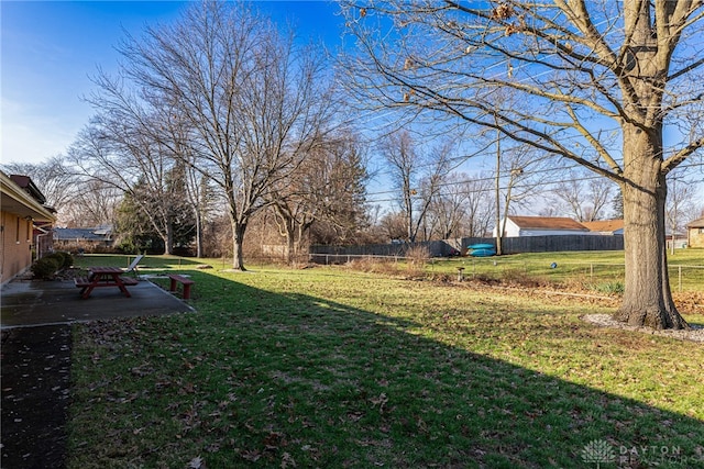
[(125, 76), (193, 130), (193, 166), (227, 200), (232, 267), (244, 270), (251, 216), (332, 122), (324, 56), (246, 4), (218, 1), (191, 5), (173, 25), (147, 29), (120, 52)]

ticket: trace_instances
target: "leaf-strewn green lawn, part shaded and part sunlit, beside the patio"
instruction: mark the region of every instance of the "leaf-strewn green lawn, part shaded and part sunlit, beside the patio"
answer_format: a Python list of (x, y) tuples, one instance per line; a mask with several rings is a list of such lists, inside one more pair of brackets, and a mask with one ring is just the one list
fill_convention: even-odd
[(251, 269), (147, 257), (197, 313), (74, 326), (69, 468), (704, 467), (704, 346), (580, 320), (610, 302)]

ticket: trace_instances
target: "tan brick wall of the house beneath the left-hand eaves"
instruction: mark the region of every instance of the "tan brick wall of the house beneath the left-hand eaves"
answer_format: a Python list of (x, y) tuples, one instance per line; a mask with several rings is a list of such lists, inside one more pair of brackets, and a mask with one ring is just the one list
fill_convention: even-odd
[(32, 265), (32, 222), (9, 212), (0, 212), (2, 271), (0, 283), (12, 280)]

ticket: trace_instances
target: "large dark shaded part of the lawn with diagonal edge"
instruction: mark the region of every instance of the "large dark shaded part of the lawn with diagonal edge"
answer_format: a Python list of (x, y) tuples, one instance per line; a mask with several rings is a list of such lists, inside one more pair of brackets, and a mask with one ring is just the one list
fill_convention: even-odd
[(695, 418), (199, 276), (199, 313), (77, 326), (69, 467), (704, 466)]

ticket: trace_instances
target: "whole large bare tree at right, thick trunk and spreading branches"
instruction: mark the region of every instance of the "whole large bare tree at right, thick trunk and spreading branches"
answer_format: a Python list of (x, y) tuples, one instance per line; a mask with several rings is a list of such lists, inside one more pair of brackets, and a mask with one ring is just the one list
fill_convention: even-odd
[[(704, 145), (701, 1), (343, 4), (361, 101), (497, 129), (616, 182), (626, 284), (615, 317), (688, 327), (668, 279), (666, 175)], [(520, 105), (495, 99), (507, 89)]]

